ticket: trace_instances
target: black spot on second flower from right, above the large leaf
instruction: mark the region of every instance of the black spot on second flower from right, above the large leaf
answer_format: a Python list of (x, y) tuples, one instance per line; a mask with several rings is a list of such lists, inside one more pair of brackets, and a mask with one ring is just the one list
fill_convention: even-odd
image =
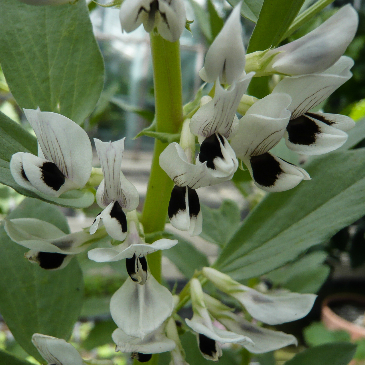
[(250, 163), (254, 180), (261, 186), (274, 186), (283, 172), (280, 163), (269, 153), (251, 156)]

